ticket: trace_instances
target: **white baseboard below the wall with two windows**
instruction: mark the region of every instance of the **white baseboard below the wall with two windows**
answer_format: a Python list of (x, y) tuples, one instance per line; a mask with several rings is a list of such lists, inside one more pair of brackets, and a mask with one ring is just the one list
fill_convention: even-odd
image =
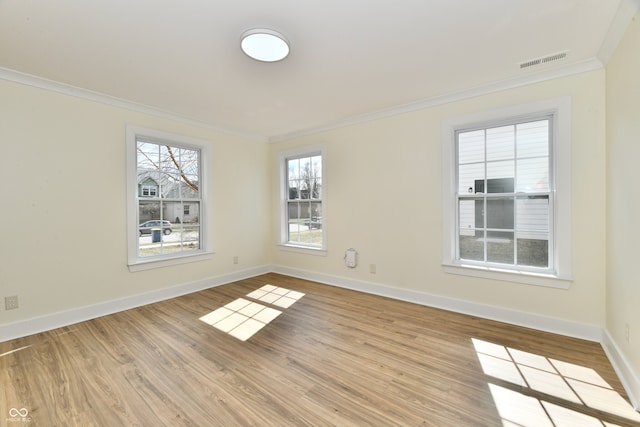
[(582, 323), (571, 322), (568, 320), (541, 316), (539, 314), (510, 310), (501, 307), (432, 295), (426, 292), (400, 289), (392, 286), (380, 285), (378, 283), (347, 279), (344, 277), (331, 276), (327, 274), (299, 270), (290, 267), (276, 265), (273, 266), (272, 271), (274, 273), (281, 273), (287, 276), (299, 277), (320, 283), (338, 286), (341, 288), (385, 296), (429, 307), (441, 308), (456, 313), (468, 314), (471, 316), (496, 320), (512, 325), (524, 326), (526, 328), (536, 329), (539, 331), (552, 332), (555, 334), (580, 338), (594, 342), (602, 341), (602, 328), (600, 328), (599, 326), (586, 325)]

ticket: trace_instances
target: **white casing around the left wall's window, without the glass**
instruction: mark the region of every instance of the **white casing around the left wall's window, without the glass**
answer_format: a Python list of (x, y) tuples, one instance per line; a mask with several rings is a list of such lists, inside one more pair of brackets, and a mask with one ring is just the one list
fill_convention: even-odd
[[(138, 254), (138, 157), (137, 141), (146, 139), (150, 142), (167, 144), (176, 147), (193, 148), (200, 151), (200, 249), (180, 252), (177, 254), (165, 254), (158, 257), (140, 257)], [(166, 267), (170, 265), (185, 264), (211, 259), (213, 254), (211, 227), (207, 224), (206, 210), (209, 205), (207, 197), (206, 177), (210, 176), (210, 142), (148, 129), (139, 126), (128, 125), (126, 127), (126, 161), (127, 161), (127, 253), (128, 267), (132, 272)]]

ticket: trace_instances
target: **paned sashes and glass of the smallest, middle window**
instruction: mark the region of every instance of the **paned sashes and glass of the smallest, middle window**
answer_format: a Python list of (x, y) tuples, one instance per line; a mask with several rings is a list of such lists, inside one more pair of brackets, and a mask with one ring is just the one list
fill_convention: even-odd
[(282, 243), (323, 249), (322, 152), (296, 153), (283, 160)]

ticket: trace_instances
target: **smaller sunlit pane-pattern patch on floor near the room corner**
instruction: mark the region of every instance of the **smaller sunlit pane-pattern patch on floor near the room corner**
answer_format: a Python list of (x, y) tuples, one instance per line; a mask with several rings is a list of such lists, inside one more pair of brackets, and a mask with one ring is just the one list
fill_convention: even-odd
[[(288, 308), (302, 298), (304, 293), (265, 285), (246, 296), (280, 308)], [(282, 311), (275, 308), (238, 298), (202, 316), (200, 320), (241, 341), (246, 341), (280, 314)]]

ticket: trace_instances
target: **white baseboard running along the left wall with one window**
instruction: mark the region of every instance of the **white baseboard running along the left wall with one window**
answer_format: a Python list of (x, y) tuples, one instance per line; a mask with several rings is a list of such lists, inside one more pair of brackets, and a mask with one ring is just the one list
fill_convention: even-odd
[(95, 319), (97, 317), (106, 316), (119, 311), (225, 285), (227, 283), (265, 274), (270, 271), (271, 268), (269, 266), (255, 267), (195, 282), (183, 283), (169, 288), (158, 289), (144, 294), (132, 295), (85, 307), (74, 308), (67, 311), (51, 313), (44, 316), (0, 325), (0, 342), (49, 331), (51, 329)]

